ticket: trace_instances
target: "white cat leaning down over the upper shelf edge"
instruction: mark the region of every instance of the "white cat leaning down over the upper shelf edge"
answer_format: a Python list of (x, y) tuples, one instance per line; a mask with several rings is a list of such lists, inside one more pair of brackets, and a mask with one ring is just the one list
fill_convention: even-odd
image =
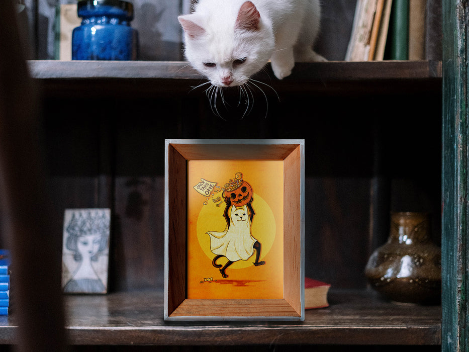
[(179, 16), (185, 57), (218, 87), (242, 85), (270, 59), (275, 76), (295, 62), (324, 61), (313, 51), (319, 0), (200, 0)]

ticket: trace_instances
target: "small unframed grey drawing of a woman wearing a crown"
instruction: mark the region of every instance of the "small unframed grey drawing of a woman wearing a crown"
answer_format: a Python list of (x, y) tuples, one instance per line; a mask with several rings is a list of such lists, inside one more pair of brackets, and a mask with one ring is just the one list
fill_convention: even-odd
[(108, 291), (110, 209), (66, 209), (63, 221), (64, 293)]

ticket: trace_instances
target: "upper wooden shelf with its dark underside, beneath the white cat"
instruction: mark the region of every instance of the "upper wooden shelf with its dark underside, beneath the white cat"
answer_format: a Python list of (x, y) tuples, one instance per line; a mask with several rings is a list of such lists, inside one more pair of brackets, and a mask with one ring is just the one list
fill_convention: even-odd
[[(29, 61), (29, 67), (46, 94), (52, 96), (205, 93), (202, 87), (192, 91), (205, 78), (182, 61), (35, 60)], [(256, 78), (288, 93), (428, 92), (440, 89), (441, 67), (441, 61), (297, 63), (292, 75), (283, 80), (276, 79), (269, 66)], [(273, 94), (268, 88), (265, 92)]]

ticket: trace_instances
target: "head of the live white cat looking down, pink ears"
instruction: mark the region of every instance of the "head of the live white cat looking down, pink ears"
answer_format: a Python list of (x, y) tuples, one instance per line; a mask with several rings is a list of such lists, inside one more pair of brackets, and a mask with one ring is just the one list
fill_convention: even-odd
[(230, 8), (205, 0), (193, 14), (178, 17), (185, 57), (213, 85), (242, 85), (269, 60), (274, 36), (268, 19), (250, 1)]

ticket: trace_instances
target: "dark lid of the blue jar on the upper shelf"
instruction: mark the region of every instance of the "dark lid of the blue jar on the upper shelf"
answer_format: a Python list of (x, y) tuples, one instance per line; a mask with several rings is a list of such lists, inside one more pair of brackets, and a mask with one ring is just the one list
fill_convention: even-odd
[(79, 17), (86, 16), (125, 16), (134, 18), (134, 6), (124, 0), (80, 0), (77, 5)]

